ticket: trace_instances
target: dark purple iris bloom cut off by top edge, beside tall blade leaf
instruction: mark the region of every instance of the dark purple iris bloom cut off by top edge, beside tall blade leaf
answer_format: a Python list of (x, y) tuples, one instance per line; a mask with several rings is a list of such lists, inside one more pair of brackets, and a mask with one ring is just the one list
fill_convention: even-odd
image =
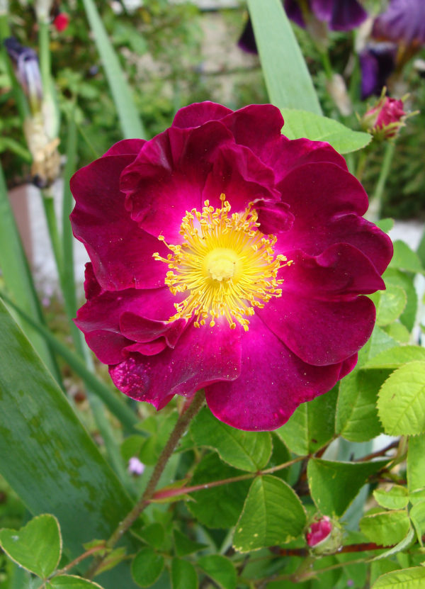
[[(331, 30), (351, 30), (358, 27), (368, 17), (368, 13), (358, 0), (307, 0), (305, 3), (318, 21), (327, 23)], [(305, 13), (297, 0), (285, 0), (288, 18), (305, 27)]]

